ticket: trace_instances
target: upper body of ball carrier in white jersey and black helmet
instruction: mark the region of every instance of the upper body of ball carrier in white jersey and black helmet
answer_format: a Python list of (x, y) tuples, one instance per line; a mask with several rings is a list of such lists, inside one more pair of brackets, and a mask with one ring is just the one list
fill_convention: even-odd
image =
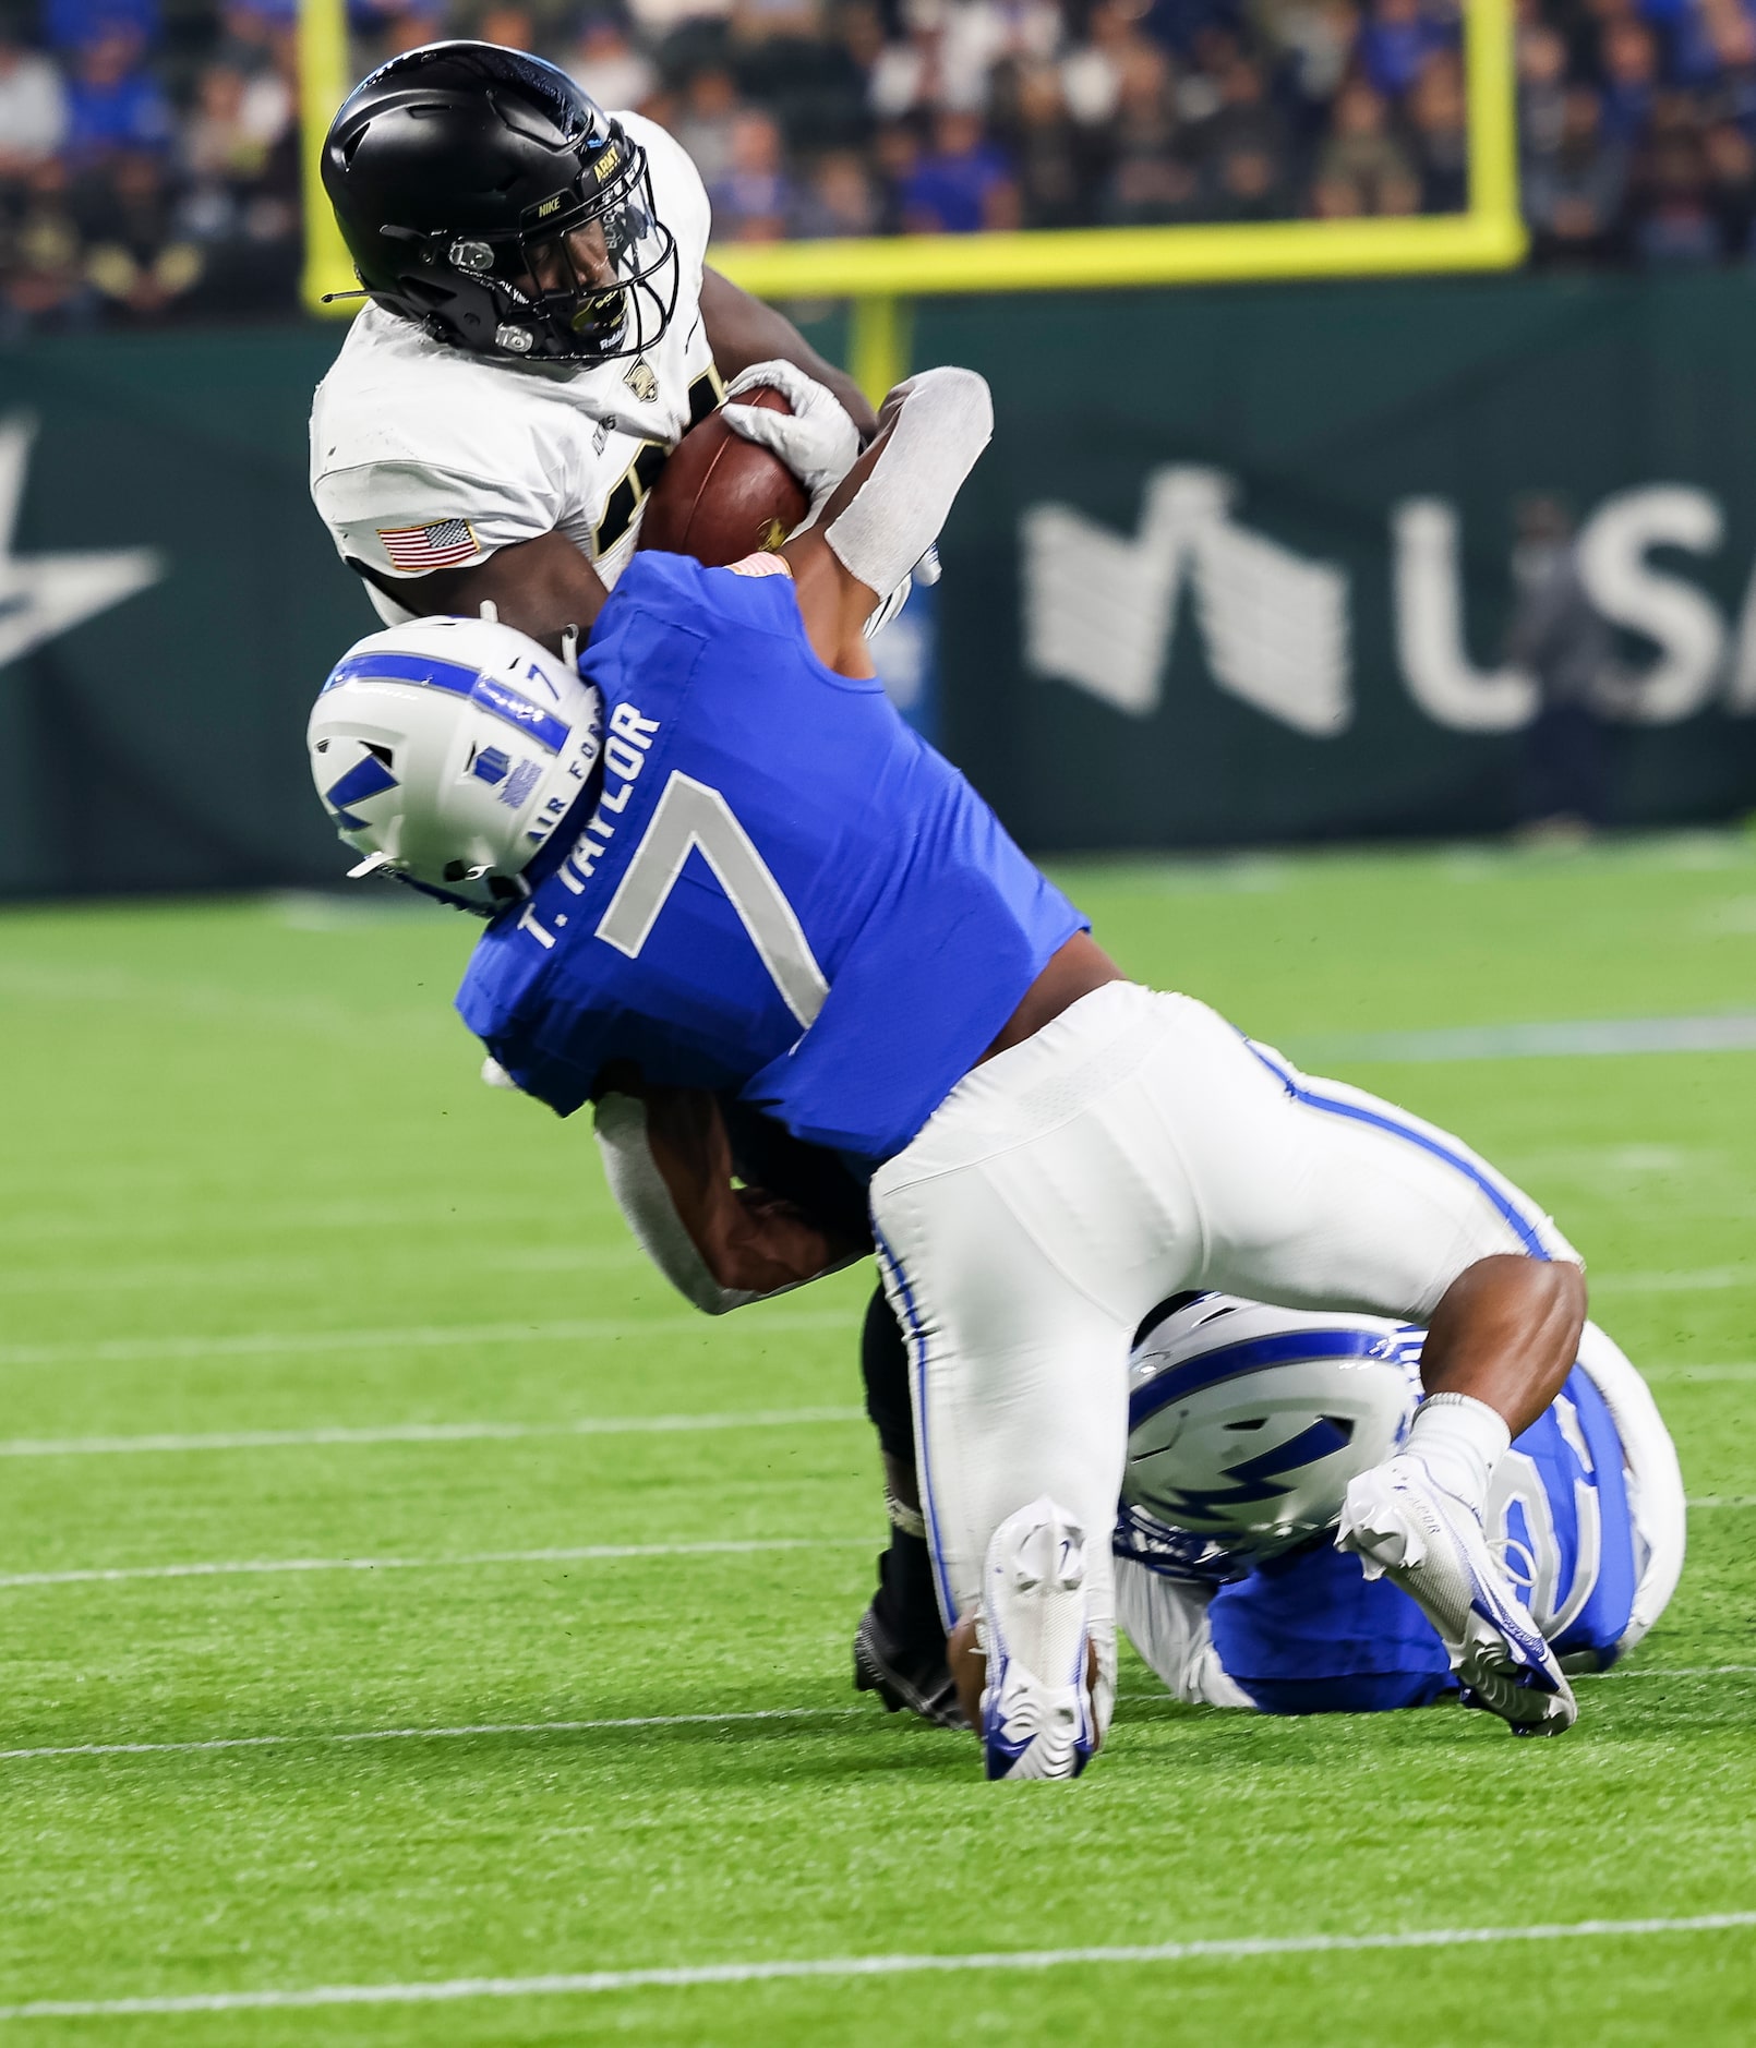
[(494, 43), (393, 57), (322, 170), (371, 303), (318, 387), (311, 498), (387, 625), (492, 602), (551, 649), (588, 631), (721, 377), (787, 391), (793, 416), (727, 422), (811, 494), (875, 426), (791, 322), (705, 266), (682, 145), (551, 63)]

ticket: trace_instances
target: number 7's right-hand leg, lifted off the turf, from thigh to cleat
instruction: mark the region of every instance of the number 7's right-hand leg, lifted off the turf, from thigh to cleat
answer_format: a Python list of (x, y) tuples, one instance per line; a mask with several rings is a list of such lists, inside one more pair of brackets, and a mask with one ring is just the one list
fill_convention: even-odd
[[(1289, 1307), (1438, 1319), (1424, 1376), (1430, 1358), (1479, 1358), (1483, 1374), (1516, 1378), (1514, 1419), (1547, 1407), (1584, 1313), (1574, 1276), (1539, 1272), (1578, 1266), (1553, 1223), (1459, 1139), (1307, 1079), (1203, 1006), (1186, 1006), (1182, 1032), (1188, 1059), (1164, 1075), (1164, 1114), (1207, 1227), (1203, 1280)], [(1506, 1270), (1465, 1284), (1479, 1298), (1445, 1335), (1447, 1298), (1483, 1262)], [(1576, 1716), (1572, 1692), (1481, 1534), (1510, 1425), (1469, 1372), (1445, 1384), (1404, 1454), (1354, 1481), (1338, 1540), (1416, 1599), (1473, 1704), (1555, 1733)]]

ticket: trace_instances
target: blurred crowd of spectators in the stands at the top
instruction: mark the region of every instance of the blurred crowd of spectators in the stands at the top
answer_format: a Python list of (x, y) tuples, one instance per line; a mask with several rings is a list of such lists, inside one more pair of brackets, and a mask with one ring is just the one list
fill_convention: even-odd
[[(1457, 0), (348, 0), (553, 57), (723, 240), (1465, 205)], [(1547, 264), (1752, 256), (1756, 0), (1520, 0)], [(0, 336), (297, 305), (295, 0), (0, 0)]]

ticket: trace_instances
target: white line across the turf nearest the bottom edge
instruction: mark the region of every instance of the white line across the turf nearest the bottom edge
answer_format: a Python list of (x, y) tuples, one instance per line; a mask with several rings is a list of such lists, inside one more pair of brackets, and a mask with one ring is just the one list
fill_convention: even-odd
[(0, 2019), (111, 2019), (152, 2013), (240, 2013), (322, 2005), (438, 2005), (459, 1999), (578, 1997), (604, 1991), (760, 1985), (785, 1978), (904, 1976), (965, 1970), (1055, 1970), (1141, 1962), (1248, 1962), (1260, 1956), (1334, 1956), (1371, 1950), (1475, 1948), (1498, 1942), (1633, 1939), (1658, 1933), (1729, 1933), (1756, 1927), (1756, 1913), (1680, 1919), (1592, 1919), (1537, 1927), (1428, 1927), (1395, 1933), (1240, 1935), (1223, 1942), (1154, 1942), (1131, 1948), (1039, 1948), (951, 1956), (824, 1956), (772, 1962), (707, 1962), (553, 1976), (453, 1976), (412, 1985), (313, 1985), (305, 1991), (207, 1991), (186, 1997), (33, 1999), (0, 2005)]

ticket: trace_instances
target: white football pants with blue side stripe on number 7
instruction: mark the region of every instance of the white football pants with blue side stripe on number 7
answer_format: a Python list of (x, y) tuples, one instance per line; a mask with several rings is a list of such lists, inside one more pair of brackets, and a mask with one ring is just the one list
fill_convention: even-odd
[(879, 1167), (871, 1212), (947, 1628), (975, 1606), (988, 1538), (1047, 1493), (1086, 1528), (1111, 1671), (1127, 1358), (1147, 1309), (1221, 1288), (1426, 1323), (1490, 1253), (1578, 1260), (1457, 1139), (1127, 981), (967, 1073)]

